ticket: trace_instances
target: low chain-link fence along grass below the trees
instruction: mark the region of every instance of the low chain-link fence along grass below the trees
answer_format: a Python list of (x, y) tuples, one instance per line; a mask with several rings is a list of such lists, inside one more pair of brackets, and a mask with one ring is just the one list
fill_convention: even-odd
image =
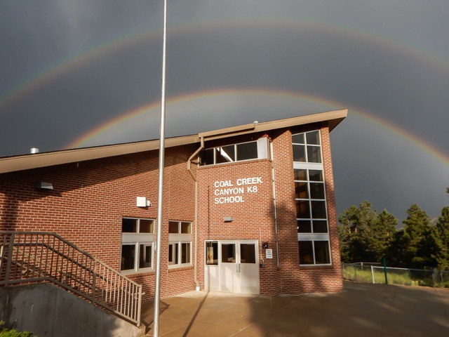
[(384, 268), (377, 263), (342, 263), (342, 276), (344, 279), (355, 282), (449, 287), (449, 272), (396, 267)]

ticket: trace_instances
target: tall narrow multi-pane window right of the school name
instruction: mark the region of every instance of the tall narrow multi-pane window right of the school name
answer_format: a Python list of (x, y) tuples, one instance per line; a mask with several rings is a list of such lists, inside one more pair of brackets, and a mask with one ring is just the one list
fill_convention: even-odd
[(300, 265), (329, 265), (326, 189), (319, 131), (292, 136)]

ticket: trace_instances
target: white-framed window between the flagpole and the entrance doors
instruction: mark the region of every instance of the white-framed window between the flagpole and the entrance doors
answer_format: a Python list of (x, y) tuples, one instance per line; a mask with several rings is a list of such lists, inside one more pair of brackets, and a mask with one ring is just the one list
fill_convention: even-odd
[(168, 222), (168, 267), (192, 265), (192, 223)]

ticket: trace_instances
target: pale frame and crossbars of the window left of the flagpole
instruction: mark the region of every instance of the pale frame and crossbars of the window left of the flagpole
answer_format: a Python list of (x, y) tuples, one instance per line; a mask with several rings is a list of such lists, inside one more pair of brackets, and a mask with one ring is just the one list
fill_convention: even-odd
[[(123, 220), (136, 220), (135, 232), (123, 232)], [(151, 221), (151, 231), (150, 232), (140, 232), (140, 221), (148, 220)], [(152, 218), (135, 218), (130, 216), (123, 216), (122, 219), (122, 229), (121, 229), (121, 246), (120, 246), (120, 272), (123, 275), (138, 274), (142, 272), (152, 272), (154, 270), (154, 224), (155, 220)], [(145, 247), (149, 246), (150, 251), (150, 266), (140, 267), (140, 246), (143, 246), (143, 253), (145, 256)], [(134, 267), (133, 269), (123, 270), (123, 246), (134, 246)], [(143, 258), (143, 256), (142, 256)]]

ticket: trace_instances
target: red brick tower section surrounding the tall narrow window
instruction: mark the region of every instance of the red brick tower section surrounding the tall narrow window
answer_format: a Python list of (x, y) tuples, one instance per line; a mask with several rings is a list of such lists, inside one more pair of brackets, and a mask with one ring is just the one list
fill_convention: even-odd
[[(295, 132), (309, 130), (303, 128)], [(321, 142), (323, 170), (326, 180), (326, 201), (328, 207), (332, 265), (299, 267), (291, 133), (289, 131), (283, 133), (274, 141), (274, 167), (276, 172), (276, 200), (278, 204), (280, 242), (279, 256), (281, 259), (283, 293), (295, 294), (342, 290), (332, 158), (330, 156), (329, 131), (326, 126), (321, 127)]]

